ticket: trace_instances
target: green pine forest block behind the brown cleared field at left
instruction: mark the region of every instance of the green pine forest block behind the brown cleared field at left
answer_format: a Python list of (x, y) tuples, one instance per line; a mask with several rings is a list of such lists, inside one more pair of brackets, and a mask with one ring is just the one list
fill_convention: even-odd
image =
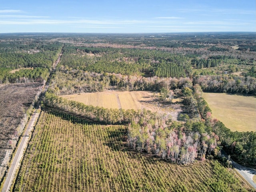
[[(24, 43), (24, 42), (23, 42)], [(47, 80), (52, 64), (62, 49), (60, 43), (0, 46), (0, 83), (28, 83)], [(10, 73), (11, 70), (17, 70)]]

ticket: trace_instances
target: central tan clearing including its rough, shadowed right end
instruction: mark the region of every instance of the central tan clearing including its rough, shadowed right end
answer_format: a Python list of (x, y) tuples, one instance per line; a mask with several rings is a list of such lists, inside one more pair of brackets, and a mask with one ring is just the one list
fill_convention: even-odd
[(84, 103), (86, 105), (99, 106), (104, 108), (150, 110), (172, 116), (172, 120), (177, 120), (178, 114), (184, 111), (183, 98), (178, 97), (172, 103), (160, 104), (156, 98), (158, 93), (149, 91), (104, 91), (97, 93), (81, 93), (62, 95), (63, 98)]

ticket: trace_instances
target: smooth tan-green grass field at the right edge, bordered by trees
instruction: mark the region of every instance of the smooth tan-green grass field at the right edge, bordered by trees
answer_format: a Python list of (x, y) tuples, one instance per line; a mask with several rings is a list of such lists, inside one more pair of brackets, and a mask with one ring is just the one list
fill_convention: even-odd
[(225, 93), (204, 93), (212, 116), (231, 131), (256, 131), (256, 98)]

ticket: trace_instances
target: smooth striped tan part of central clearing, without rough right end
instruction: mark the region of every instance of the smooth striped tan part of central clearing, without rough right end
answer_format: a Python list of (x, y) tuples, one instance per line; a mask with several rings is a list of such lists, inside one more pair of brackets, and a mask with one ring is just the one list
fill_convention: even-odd
[(82, 102), (86, 105), (100, 106), (104, 108), (122, 108), (125, 110), (139, 110), (146, 108), (147, 110), (154, 111), (152, 107), (142, 104), (144, 101), (154, 99), (154, 93), (147, 91), (105, 91), (97, 93), (63, 95), (62, 97), (68, 100)]

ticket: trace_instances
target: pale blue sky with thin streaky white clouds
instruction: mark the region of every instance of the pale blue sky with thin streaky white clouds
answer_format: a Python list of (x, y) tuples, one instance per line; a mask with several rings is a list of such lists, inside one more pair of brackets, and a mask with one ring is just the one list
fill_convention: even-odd
[(255, 0), (1, 0), (0, 33), (256, 32)]

